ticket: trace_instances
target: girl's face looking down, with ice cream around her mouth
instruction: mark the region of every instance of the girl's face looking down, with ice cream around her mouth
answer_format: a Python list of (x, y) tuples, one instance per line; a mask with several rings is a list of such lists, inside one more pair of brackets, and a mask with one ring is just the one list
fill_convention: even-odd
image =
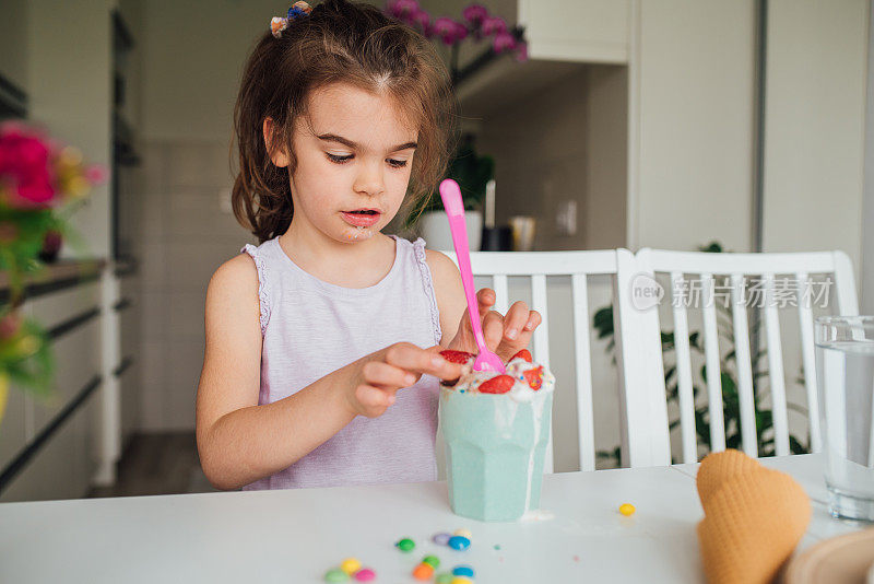
[(406, 194), (418, 136), (402, 119), (389, 96), (343, 83), (314, 92), (309, 124), (298, 118), (294, 129), (293, 222), (343, 243), (385, 227)]

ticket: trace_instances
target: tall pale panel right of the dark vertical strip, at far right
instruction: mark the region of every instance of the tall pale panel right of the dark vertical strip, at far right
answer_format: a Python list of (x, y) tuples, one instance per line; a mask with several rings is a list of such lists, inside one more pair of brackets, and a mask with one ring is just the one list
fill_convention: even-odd
[(859, 273), (866, 0), (771, 0), (765, 252), (843, 249)]

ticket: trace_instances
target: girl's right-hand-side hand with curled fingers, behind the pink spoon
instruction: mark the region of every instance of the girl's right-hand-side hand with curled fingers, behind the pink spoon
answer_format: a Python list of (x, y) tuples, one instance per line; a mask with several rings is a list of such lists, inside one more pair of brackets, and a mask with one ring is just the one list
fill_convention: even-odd
[[(528, 347), (528, 343), (531, 342), (531, 335), (542, 322), (539, 312), (529, 311), (524, 302), (517, 302), (510, 306), (507, 315), (503, 316), (499, 312), (492, 309), (492, 306), (495, 305), (495, 292), (488, 288), (483, 288), (476, 293), (476, 301), (486, 347), (505, 362)], [(464, 311), (464, 316), (461, 317), (458, 332), (449, 343), (449, 349), (474, 354), (479, 352), (471, 328), (469, 309)]]

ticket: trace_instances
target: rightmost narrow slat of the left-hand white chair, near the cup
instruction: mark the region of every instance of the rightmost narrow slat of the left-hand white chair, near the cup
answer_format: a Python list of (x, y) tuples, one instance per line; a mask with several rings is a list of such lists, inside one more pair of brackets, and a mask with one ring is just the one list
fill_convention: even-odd
[(589, 291), (584, 273), (570, 278), (574, 294), (574, 337), (577, 359), (577, 433), (580, 470), (594, 470), (594, 413), (592, 411), (592, 363), (589, 347)]

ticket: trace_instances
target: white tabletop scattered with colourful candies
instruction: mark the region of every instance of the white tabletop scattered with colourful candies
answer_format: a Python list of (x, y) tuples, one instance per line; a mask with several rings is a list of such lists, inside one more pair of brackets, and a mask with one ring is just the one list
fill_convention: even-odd
[[(802, 547), (858, 529), (831, 519), (818, 455), (765, 459), (813, 500)], [(701, 582), (697, 465), (544, 477), (554, 518), (485, 524), (458, 517), (446, 483), (0, 504), (0, 582), (321, 582), (347, 556), (377, 582), (416, 582), (426, 553), (470, 564), (476, 583)], [(637, 513), (623, 517), (624, 502)], [(464, 552), (430, 541), (464, 527)], [(416, 541), (412, 553), (393, 547)]]

